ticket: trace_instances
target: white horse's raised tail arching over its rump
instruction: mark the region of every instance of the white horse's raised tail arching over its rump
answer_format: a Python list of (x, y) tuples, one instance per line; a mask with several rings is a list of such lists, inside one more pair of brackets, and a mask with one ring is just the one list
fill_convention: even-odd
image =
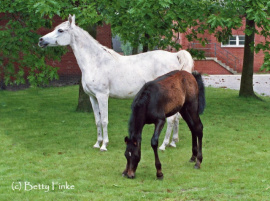
[(179, 70), (185, 70), (189, 73), (193, 71), (194, 61), (188, 51), (180, 50), (179, 52), (177, 52), (177, 58), (180, 63)]

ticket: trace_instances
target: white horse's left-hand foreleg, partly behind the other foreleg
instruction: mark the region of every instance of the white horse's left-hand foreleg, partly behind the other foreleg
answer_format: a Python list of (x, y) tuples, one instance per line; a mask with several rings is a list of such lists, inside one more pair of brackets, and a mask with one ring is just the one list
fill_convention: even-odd
[(90, 96), (90, 101), (92, 104), (92, 108), (94, 111), (94, 116), (95, 116), (95, 122), (97, 126), (97, 142), (94, 145), (94, 148), (100, 148), (100, 143), (102, 143), (103, 138), (102, 138), (102, 125), (101, 125), (101, 117), (100, 117), (100, 112), (99, 112), (99, 106), (97, 99), (93, 96)]

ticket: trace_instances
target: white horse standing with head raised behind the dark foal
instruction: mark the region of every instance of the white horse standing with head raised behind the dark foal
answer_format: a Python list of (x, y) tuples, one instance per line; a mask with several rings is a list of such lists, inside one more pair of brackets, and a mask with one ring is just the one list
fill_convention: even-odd
[[(94, 147), (100, 148), (102, 143), (101, 151), (107, 150), (109, 142), (109, 97), (133, 98), (146, 82), (158, 76), (172, 70), (191, 72), (193, 69), (193, 59), (185, 50), (177, 53), (157, 50), (122, 56), (102, 46), (86, 31), (76, 26), (75, 15), (69, 15), (68, 21), (39, 39), (40, 47), (66, 45), (71, 46), (82, 71), (82, 86), (90, 97), (97, 126), (97, 142)], [(178, 140), (179, 116), (172, 116), (167, 120), (169, 135), (172, 127), (175, 131), (172, 145)], [(161, 149), (164, 150), (168, 143), (168, 140), (163, 143)]]

